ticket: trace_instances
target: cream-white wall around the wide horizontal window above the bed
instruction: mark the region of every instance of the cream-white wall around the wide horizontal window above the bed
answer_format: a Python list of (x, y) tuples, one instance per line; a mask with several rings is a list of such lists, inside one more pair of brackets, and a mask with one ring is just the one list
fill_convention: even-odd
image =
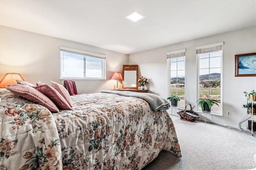
[(6, 73), (20, 73), (25, 81), (33, 84), (38, 81), (50, 84), (51, 80), (63, 84), (60, 80), (60, 46), (106, 54), (107, 80), (76, 80), (78, 93), (113, 89), (116, 81), (110, 80), (112, 75), (115, 71), (122, 73), (122, 65), (128, 64), (126, 54), (0, 26), (0, 80)]

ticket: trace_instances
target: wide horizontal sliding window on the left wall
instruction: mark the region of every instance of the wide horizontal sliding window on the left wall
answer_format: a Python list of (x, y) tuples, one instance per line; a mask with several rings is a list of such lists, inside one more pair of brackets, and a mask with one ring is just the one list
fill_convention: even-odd
[(60, 79), (106, 79), (105, 55), (60, 47)]

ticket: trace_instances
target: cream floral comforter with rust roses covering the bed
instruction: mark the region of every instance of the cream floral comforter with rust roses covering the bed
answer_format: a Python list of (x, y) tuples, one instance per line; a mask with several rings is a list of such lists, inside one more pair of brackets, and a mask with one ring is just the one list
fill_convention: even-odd
[(0, 91), (0, 169), (142, 169), (169, 150), (181, 156), (166, 111), (109, 93), (71, 96), (73, 110), (46, 107)]

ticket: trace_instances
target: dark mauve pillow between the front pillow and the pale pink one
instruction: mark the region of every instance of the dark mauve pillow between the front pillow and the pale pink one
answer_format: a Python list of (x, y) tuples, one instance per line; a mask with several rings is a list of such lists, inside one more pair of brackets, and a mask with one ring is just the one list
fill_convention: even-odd
[(68, 102), (53, 87), (43, 84), (36, 86), (36, 89), (49, 97), (49, 99), (51, 99), (59, 109), (72, 110)]

